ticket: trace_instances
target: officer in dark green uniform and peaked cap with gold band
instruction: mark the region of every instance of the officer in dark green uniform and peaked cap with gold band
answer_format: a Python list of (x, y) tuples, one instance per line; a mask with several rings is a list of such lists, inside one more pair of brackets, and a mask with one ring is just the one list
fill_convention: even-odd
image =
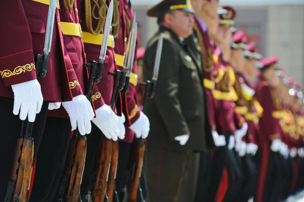
[(161, 32), (164, 38), (155, 96), (146, 113), (147, 201), (191, 202), (197, 175), (188, 173), (198, 173), (199, 157), (193, 151), (214, 145), (211, 130), (206, 133), (201, 55), (185, 43), (193, 33), (194, 10), (190, 0), (164, 0), (147, 15), (157, 17), (160, 28), (146, 46), (144, 80), (151, 79)]

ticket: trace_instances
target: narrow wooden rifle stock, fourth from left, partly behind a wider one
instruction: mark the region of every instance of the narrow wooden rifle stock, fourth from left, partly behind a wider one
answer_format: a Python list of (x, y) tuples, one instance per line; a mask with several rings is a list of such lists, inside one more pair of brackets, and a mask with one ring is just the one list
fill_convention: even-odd
[[(107, 186), (107, 196), (109, 202), (113, 202), (113, 198), (117, 196), (115, 189), (115, 179), (118, 166), (118, 152), (119, 152), (119, 143), (118, 141), (112, 141), (112, 157), (111, 157), (111, 166), (108, 176), (108, 186)], [(116, 192), (116, 193), (115, 193)]]

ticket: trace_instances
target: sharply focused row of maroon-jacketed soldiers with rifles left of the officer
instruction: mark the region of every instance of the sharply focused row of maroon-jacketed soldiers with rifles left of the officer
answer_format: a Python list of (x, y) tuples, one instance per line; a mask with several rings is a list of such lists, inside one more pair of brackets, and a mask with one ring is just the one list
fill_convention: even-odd
[(118, 201), (133, 139), (149, 133), (131, 3), (13, 0), (0, 10), (0, 200)]

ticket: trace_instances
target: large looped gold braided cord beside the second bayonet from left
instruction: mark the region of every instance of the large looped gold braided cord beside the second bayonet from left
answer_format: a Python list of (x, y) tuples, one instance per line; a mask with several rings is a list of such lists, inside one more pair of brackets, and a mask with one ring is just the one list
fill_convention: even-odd
[[(91, 7), (91, 0), (85, 0), (85, 15), (86, 25), (91, 34), (98, 35), (103, 31), (104, 20), (107, 12), (106, 0), (92, 0), (94, 2), (93, 8)], [(98, 9), (98, 17), (95, 16), (95, 9)], [(93, 29), (92, 18), (98, 20), (96, 29)]]

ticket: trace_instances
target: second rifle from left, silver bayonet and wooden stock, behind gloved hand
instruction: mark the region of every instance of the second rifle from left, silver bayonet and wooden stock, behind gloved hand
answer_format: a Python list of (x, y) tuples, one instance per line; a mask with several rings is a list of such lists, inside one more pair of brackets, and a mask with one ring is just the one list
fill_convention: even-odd
[[(90, 102), (92, 102), (92, 94), (95, 83), (100, 82), (101, 79), (112, 16), (113, 2), (110, 3), (106, 16), (99, 62), (92, 61), (91, 63), (84, 63), (85, 68), (91, 69), (89, 83), (86, 90), (86, 97), (88, 100), (90, 100)], [(59, 198), (57, 199), (58, 202), (75, 202), (80, 199), (80, 186), (85, 167), (86, 152), (87, 138), (85, 136), (81, 136), (78, 129), (76, 129), (72, 135), (64, 173), (60, 180)]]

